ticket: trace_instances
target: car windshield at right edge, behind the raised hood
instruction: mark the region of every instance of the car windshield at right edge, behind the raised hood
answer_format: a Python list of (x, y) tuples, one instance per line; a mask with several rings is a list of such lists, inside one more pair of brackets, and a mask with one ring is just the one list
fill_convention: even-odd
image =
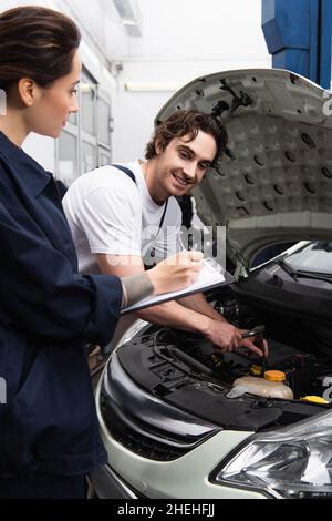
[(307, 243), (283, 258), (294, 272), (332, 275), (332, 242)]

